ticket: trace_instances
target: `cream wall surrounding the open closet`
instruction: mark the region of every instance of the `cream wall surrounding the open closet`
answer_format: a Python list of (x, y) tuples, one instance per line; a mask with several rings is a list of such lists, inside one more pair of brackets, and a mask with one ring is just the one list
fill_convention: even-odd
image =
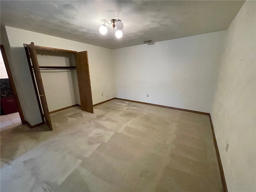
[(11, 70), (22, 109), (30, 124), (40, 123), (41, 117), (28, 69), (24, 43), (34, 42), (40, 46), (78, 52), (87, 50), (93, 104), (116, 96), (112, 50), (8, 26), (5, 26), (5, 29), (11, 50)]

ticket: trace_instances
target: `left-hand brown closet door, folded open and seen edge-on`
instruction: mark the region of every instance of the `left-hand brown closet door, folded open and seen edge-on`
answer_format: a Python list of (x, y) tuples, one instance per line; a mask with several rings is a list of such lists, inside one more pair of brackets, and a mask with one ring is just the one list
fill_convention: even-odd
[(45, 93), (44, 93), (44, 86), (43, 86), (42, 77), (41, 77), (41, 74), (40, 74), (38, 60), (37, 60), (37, 57), (36, 57), (36, 50), (35, 50), (34, 42), (31, 42), (29, 44), (28, 50), (29, 50), (29, 53), (30, 53), (32, 66), (34, 68), (34, 74), (35, 74), (35, 77), (36, 77), (36, 84), (37, 84), (38, 92), (39, 92), (39, 95), (40, 95), (40, 100), (41, 100), (41, 104), (42, 104), (42, 108), (43, 108), (43, 112), (44, 112), (45, 122), (49, 126), (50, 130), (52, 130), (52, 122), (51, 122), (51, 119), (50, 119), (50, 114), (49, 114), (49, 110), (48, 110), (48, 106), (47, 106), (47, 102), (46, 102), (46, 96), (45, 96)]

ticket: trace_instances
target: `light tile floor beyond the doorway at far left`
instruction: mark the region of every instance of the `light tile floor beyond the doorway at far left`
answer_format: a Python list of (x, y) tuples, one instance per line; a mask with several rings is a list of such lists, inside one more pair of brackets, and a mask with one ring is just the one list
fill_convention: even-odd
[(0, 131), (19, 126), (21, 124), (22, 122), (18, 112), (0, 116)]

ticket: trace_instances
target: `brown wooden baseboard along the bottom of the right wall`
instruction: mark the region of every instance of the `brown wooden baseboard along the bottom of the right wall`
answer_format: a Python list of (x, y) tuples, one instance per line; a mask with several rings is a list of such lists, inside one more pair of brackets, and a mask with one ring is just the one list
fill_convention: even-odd
[(216, 140), (216, 137), (215, 137), (214, 127), (213, 127), (213, 124), (212, 124), (211, 114), (209, 114), (209, 118), (210, 118), (210, 123), (211, 123), (211, 128), (212, 128), (212, 136), (213, 136), (213, 140), (214, 140), (214, 146), (215, 146), (215, 149), (216, 149), (216, 154), (217, 154), (217, 157), (218, 157), (218, 163), (219, 163), (219, 167), (220, 167), (220, 176), (221, 176), (221, 180), (222, 180), (223, 190), (224, 190), (224, 192), (228, 192), (228, 187), (227, 187), (227, 184), (226, 184), (224, 170), (223, 170), (222, 162), (221, 162), (221, 159), (220, 159), (220, 152), (219, 152), (217, 140)]

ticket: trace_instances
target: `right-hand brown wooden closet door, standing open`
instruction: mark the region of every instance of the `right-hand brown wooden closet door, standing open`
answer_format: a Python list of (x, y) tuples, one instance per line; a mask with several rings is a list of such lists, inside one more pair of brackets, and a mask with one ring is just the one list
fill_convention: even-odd
[(81, 110), (93, 113), (92, 90), (87, 51), (75, 53), (75, 60)]

